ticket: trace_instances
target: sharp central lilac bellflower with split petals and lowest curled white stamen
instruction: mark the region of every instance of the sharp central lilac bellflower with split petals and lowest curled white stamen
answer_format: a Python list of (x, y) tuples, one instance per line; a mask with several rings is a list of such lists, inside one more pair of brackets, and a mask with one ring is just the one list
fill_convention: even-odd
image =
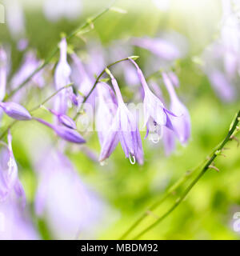
[[(112, 126), (110, 127), (109, 133), (102, 144), (100, 161), (104, 161), (109, 156), (109, 152), (112, 150), (116, 139), (115, 137), (118, 136), (126, 158), (130, 158), (132, 163), (137, 160), (139, 164), (142, 164), (142, 140), (138, 130), (138, 124), (134, 118), (134, 115), (131, 114), (130, 110), (127, 109), (125, 103), (123, 102), (122, 94), (118, 87), (118, 82), (110, 73), (110, 70), (106, 70), (106, 73), (110, 75), (112, 85), (114, 86), (118, 100), (118, 110)], [(134, 160), (132, 160), (132, 158)]]

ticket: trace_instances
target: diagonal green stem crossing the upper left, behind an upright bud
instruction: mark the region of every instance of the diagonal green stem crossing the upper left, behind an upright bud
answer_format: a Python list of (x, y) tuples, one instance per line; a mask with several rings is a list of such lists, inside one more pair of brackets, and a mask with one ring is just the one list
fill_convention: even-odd
[[(113, 5), (115, 1), (111, 2), (110, 6)], [(108, 10), (110, 10), (110, 6), (108, 6), (106, 9), (102, 10), (101, 13), (97, 14), (94, 16), (94, 18), (89, 18), (86, 20), (82, 26), (78, 27), (77, 30), (74, 30), (72, 33), (70, 33), (67, 37), (66, 40), (70, 40), (70, 38), (73, 38), (76, 34), (78, 34), (81, 30), (86, 29), (86, 27), (90, 26), (93, 24), (98, 18), (102, 17), (103, 14), (106, 14)], [(55, 46), (54, 50), (51, 52), (48, 58), (40, 64), (16, 89), (12, 90), (9, 95), (6, 96), (4, 101), (6, 101), (8, 98), (11, 98), (18, 92), (18, 90), (21, 90), (23, 86), (26, 85), (27, 82), (30, 82), (31, 78), (34, 77), (35, 74), (38, 74), (40, 70), (42, 70), (47, 64), (50, 63), (50, 61), (54, 58), (54, 56), (58, 53), (58, 46)]]

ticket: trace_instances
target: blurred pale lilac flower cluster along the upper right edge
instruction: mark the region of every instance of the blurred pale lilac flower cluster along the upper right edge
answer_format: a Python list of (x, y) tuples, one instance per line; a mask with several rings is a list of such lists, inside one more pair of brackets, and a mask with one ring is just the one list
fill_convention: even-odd
[(203, 70), (214, 91), (223, 102), (234, 101), (238, 94), (239, 34), (238, 14), (234, 11), (230, 0), (222, 0), (222, 22), (219, 38), (206, 48), (202, 59), (204, 61)]

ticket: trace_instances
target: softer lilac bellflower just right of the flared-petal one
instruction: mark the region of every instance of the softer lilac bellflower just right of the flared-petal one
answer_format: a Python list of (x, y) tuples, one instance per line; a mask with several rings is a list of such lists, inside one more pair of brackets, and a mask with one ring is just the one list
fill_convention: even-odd
[(185, 144), (190, 138), (190, 114), (186, 106), (180, 102), (174, 90), (174, 86), (166, 73), (162, 73), (163, 82), (170, 94), (170, 110), (177, 115), (176, 118), (170, 118), (173, 130), (177, 134), (182, 144)]

